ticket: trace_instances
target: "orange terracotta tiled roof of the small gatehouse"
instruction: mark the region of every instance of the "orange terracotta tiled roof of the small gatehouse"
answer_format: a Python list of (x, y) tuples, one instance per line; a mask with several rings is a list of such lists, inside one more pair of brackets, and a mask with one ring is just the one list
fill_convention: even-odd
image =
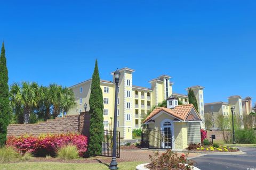
[[(191, 109), (194, 109), (197, 116), (190, 114)], [(143, 121), (143, 123), (146, 123), (147, 121), (149, 121), (151, 118), (153, 118), (155, 115), (157, 115), (161, 111), (164, 111), (165, 113), (170, 114), (173, 117), (178, 118), (181, 121), (201, 121), (194, 105), (187, 104), (187, 105), (178, 105), (173, 109), (166, 108), (166, 107), (157, 107), (154, 109), (154, 111), (152, 111), (148, 115), (148, 117)]]

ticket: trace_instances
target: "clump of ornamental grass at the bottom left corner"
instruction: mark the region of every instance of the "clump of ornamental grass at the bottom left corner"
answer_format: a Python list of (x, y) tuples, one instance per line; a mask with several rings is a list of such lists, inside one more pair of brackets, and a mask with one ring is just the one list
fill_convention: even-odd
[(0, 163), (11, 162), (18, 157), (19, 154), (12, 147), (0, 148)]

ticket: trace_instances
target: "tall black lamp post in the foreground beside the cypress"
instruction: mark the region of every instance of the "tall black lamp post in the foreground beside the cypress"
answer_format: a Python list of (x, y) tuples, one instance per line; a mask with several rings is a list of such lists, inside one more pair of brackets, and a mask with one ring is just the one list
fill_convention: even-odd
[(113, 130), (113, 150), (112, 150), (112, 160), (109, 166), (109, 169), (118, 169), (117, 162), (116, 162), (116, 122), (117, 122), (117, 89), (118, 83), (120, 79), (120, 72), (116, 70), (114, 72), (115, 76), (115, 83), (116, 83), (116, 90), (115, 90), (115, 112), (114, 112), (114, 130)]

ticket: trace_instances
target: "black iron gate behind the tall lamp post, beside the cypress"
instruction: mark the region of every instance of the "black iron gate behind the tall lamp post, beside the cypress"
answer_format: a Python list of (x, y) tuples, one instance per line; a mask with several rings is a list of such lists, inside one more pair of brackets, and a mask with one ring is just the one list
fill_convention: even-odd
[[(104, 130), (101, 156), (112, 157), (113, 151), (113, 131)], [(116, 134), (116, 157), (120, 157), (120, 132)]]

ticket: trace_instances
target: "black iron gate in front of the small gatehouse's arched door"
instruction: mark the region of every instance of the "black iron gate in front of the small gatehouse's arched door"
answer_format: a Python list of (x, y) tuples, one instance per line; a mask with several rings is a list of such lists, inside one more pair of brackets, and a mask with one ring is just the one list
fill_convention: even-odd
[(172, 131), (143, 128), (141, 132), (141, 147), (149, 149), (172, 149)]

